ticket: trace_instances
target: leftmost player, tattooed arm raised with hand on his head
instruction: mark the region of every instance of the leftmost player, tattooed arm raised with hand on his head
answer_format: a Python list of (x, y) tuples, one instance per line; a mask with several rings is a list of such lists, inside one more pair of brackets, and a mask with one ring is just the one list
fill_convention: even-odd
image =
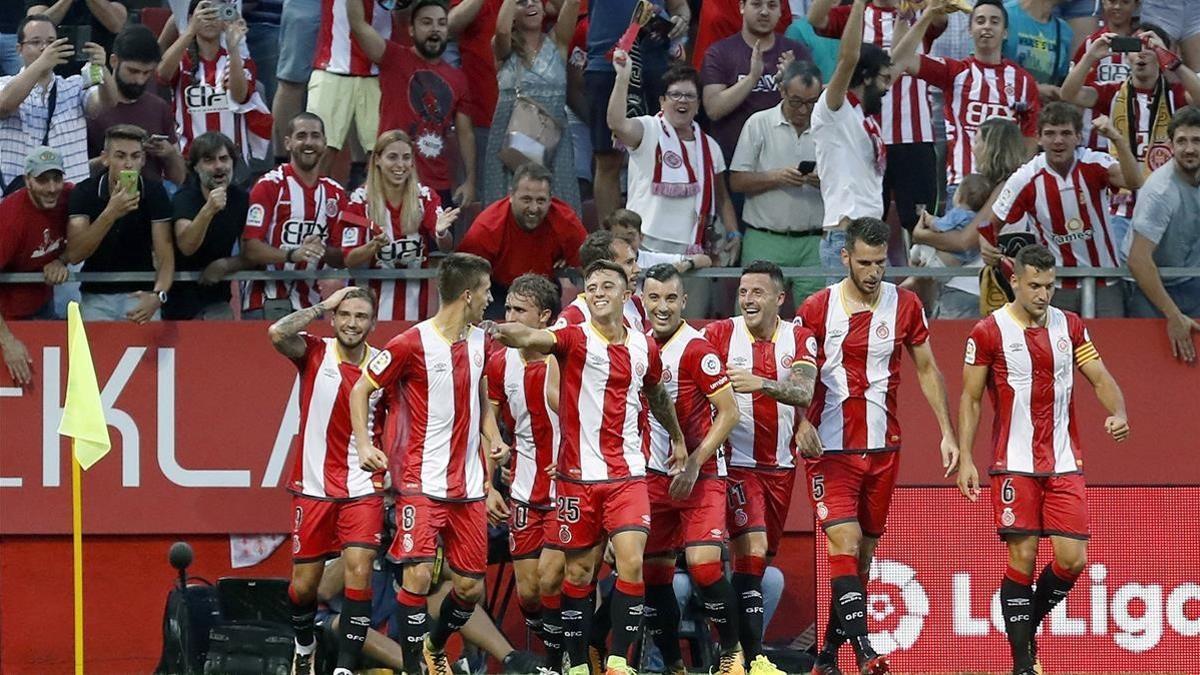
[[(199, 138), (203, 136), (197, 142)], [(330, 311), (334, 338), (304, 331)], [(374, 293), (347, 286), (314, 306), (289, 313), (268, 330), (275, 351), (300, 371), (304, 392), (300, 452), (288, 480), (294, 514), (288, 598), (295, 631), (292, 671), (296, 674), (312, 674), (317, 586), (325, 558), (341, 556), (346, 578), (335, 673), (346, 675), (358, 667), (371, 626), (371, 565), (383, 532), (385, 467), (364, 471), (353, 438), (359, 432), (368, 438), (367, 447), (378, 442), (388, 411), (382, 393), (376, 392), (367, 401), (370, 422), (362, 429), (352, 429), (349, 398), (362, 369), (379, 353), (367, 344), (374, 317)]]

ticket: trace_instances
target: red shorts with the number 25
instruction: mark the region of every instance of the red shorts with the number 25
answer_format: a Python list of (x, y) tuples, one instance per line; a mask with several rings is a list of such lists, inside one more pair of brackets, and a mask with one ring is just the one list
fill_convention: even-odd
[(650, 501), (646, 480), (630, 478), (610, 483), (558, 480), (558, 536), (553, 548), (564, 551), (590, 549), (600, 537), (625, 530), (650, 531)]

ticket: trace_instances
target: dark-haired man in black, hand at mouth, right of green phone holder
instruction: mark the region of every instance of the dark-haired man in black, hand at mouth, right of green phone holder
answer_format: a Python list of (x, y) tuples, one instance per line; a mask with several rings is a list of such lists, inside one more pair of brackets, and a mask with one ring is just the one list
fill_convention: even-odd
[[(120, 41), (120, 38), (118, 38)], [(246, 227), (250, 195), (233, 179), (236, 148), (229, 137), (208, 131), (192, 141), (187, 166), (192, 178), (175, 193), (175, 269), (203, 271), (200, 282), (175, 283), (163, 317), (172, 321), (230, 319), (229, 282), (222, 279), (242, 268), (234, 247)]]

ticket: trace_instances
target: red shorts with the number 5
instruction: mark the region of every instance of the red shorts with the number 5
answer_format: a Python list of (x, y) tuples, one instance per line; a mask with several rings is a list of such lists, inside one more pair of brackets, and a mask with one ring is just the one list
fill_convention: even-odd
[(858, 522), (863, 534), (880, 538), (900, 473), (900, 453), (830, 453), (805, 461), (809, 500), (817, 524), (828, 530)]

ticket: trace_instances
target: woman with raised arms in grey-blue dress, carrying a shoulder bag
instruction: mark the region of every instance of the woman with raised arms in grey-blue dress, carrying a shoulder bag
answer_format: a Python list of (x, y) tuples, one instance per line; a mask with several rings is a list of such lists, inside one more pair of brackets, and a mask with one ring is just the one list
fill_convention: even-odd
[(500, 5), (492, 38), (500, 96), (487, 137), (490, 156), (484, 167), (484, 205), (508, 196), (512, 172), (496, 154), (504, 147), (517, 96), (523, 96), (536, 101), (563, 131), (545, 166), (554, 174), (551, 193), (580, 210), (575, 151), (566, 130), (566, 55), (578, 13), (580, 0), (563, 0), (554, 29), (546, 34), (541, 30), (546, 19), (542, 0), (504, 0)]

